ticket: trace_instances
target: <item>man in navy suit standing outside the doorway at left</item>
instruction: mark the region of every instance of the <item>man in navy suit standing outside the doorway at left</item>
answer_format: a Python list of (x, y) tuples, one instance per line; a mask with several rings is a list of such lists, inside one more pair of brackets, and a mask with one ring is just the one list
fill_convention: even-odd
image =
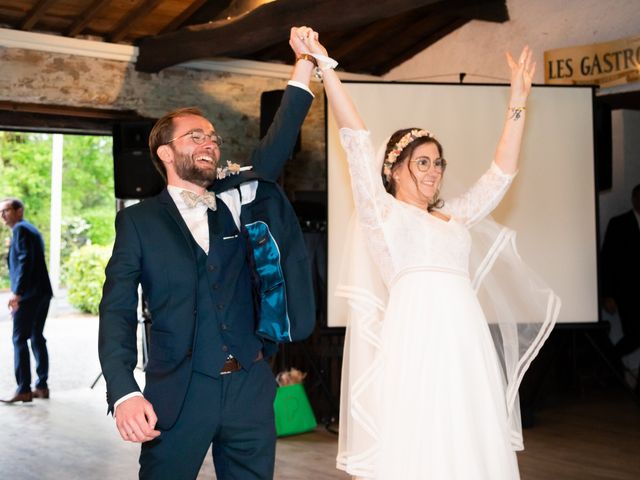
[[(13, 349), (16, 382), (15, 395), (6, 403), (30, 402), (33, 397), (49, 398), (49, 354), (42, 334), (53, 296), (44, 259), (44, 241), (38, 229), (24, 219), (24, 205), (16, 198), (0, 204), (2, 221), (12, 230), (9, 249), (11, 292), (9, 308), (13, 316)], [(29, 346), (36, 359), (38, 381), (31, 392)]]

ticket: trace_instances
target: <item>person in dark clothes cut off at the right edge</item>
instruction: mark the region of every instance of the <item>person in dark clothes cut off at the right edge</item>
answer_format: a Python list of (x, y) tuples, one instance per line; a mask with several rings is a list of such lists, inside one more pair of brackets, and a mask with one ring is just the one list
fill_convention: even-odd
[(631, 192), (631, 204), (609, 221), (602, 246), (603, 306), (620, 317), (619, 357), (640, 347), (640, 185)]

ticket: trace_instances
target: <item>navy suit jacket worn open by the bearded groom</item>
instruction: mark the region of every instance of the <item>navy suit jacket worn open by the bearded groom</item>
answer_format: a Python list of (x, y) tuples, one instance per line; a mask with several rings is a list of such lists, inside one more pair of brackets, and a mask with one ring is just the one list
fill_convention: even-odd
[[(277, 177), (290, 158), (311, 100), (308, 92), (287, 87), (269, 132), (252, 154), (252, 178), (268, 179), (262, 183), (272, 185), (271, 180)], [(287, 210), (287, 207), (291, 207), (283, 202), (279, 191), (272, 195), (267, 190), (273, 190), (273, 187), (267, 186), (264, 192), (262, 190), (263, 186), (260, 185), (260, 194), (256, 197), (260, 204), (263, 203), (262, 200), (268, 203), (269, 199), (277, 204), (261, 210), (266, 212), (264, 218), (267, 221), (280, 225), (282, 217), (294, 220)], [(252, 208), (244, 205), (241, 217), (248, 215), (245, 210), (250, 211)], [(297, 221), (294, 225), (283, 226), (281, 230), (289, 232), (296, 228), (299, 231)], [(210, 232), (211, 229), (210, 225)], [(217, 240), (215, 232), (213, 235), (211, 242)], [(284, 263), (289, 263), (289, 257), (298, 258), (300, 248), (287, 243), (293, 237), (287, 233), (277, 235), (285, 239), (283, 248), (287, 251), (283, 253)], [(171, 405), (164, 412), (165, 418), (173, 419), (177, 416), (193, 367), (193, 348), (198, 328), (198, 315), (194, 309), (195, 292), (198, 291), (198, 265), (193, 244), (191, 233), (166, 190), (156, 197), (122, 210), (116, 217), (116, 240), (107, 265), (100, 303), (98, 346), (107, 382), (110, 411), (119, 398), (139, 391), (133, 370), (137, 363), (137, 286), (141, 284), (153, 320), (150, 339), (154, 348), (149, 351), (149, 365), (163, 364), (162, 371), (154, 368), (153, 374), (147, 372), (147, 389), (162, 392), (160, 401)], [(306, 260), (306, 256), (304, 259)], [(235, 260), (230, 259), (229, 263), (232, 264)], [(230, 269), (232, 268), (233, 265)], [(308, 264), (300, 262), (296, 268), (301, 270), (297, 275), (300, 278), (308, 277), (308, 284), (311, 285)], [(306, 294), (304, 286), (301, 291), (303, 295)], [(311, 297), (300, 302), (309, 302), (313, 308)], [(305, 325), (296, 330), (301, 335), (308, 335), (314, 320), (314, 317), (300, 318)], [(154, 403), (154, 398), (149, 400)], [(160, 418), (160, 414), (158, 416)], [(162, 424), (159, 422), (159, 425), (167, 428), (172, 423), (168, 420)]]

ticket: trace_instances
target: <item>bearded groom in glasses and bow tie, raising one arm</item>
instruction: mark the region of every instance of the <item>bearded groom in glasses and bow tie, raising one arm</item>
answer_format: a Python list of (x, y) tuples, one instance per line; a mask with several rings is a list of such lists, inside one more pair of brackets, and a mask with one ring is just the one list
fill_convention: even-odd
[[(265, 358), (277, 344), (256, 334), (257, 316), (271, 312), (256, 297), (251, 265), (259, 250), (248, 230), (264, 233), (256, 245), (277, 243), (270, 253), (281, 256), (271, 273), (281, 267), (286, 280), (286, 270), (297, 271), (284, 316), (291, 339), (309, 335), (314, 307), (304, 243), (275, 186), (313, 98), (314, 65), (301, 40), (309, 32), (291, 31), (296, 65), (251, 171), (221, 169), (213, 125), (197, 109), (180, 109), (158, 120), (149, 137), (167, 189), (117, 215), (99, 353), (120, 435), (143, 442), (141, 478), (196, 478), (210, 446), (220, 480), (273, 477), (276, 384)], [(227, 178), (216, 180), (221, 171)], [(144, 394), (133, 377), (138, 284), (152, 318)]]

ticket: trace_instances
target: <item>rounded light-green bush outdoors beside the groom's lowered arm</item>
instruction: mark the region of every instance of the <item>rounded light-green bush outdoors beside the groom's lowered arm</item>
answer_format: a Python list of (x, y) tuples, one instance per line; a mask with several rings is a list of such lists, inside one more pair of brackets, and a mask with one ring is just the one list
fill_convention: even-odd
[(98, 313), (104, 269), (110, 255), (110, 247), (98, 245), (85, 245), (71, 254), (66, 264), (67, 295), (71, 305), (86, 313)]

